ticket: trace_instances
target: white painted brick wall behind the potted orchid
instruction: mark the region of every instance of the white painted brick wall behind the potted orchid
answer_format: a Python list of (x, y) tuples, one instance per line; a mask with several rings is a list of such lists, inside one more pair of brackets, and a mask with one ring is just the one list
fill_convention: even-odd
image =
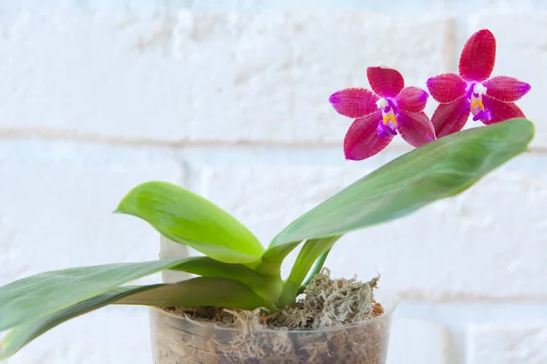
[[(484, 27), (498, 39), (493, 75), (532, 84), (519, 103), (537, 126), (531, 151), (459, 197), (346, 236), (326, 266), (379, 272), (403, 298), (390, 364), (546, 363), (542, 0), (0, 0), (0, 285), (157, 258), (151, 227), (111, 214), (147, 180), (210, 198), (268, 244), (409, 150), (397, 138), (344, 161), (351, 120), (328, 96), (368, 87), (378, 63), (425, 87), (457, 71)], [(147, 310), (129, 307), (74, 319), (7, 360), (150, 362)]]

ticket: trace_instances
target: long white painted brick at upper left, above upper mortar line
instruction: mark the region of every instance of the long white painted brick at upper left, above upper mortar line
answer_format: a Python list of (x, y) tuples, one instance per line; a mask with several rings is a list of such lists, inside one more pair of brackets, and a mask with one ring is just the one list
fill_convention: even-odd
[(36, 13), (0, 22), (5, 132), (341, 143), (351, 120), (330, 94), (379, 62), (423, 84), (450, 46), (442, 17)]

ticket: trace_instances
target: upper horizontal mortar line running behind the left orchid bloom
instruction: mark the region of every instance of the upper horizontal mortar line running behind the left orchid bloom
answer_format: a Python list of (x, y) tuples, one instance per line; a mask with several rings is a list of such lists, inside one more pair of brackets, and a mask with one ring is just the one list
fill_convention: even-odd
[[(106, 144), (110, 146), (124, 147), (288, 147), (288, 148), (328, 148), (341, 147), (341, 143), (337, 142), (321, 142), (321, 141), (302, 141), (302, 142), (278, 142), (278, 141), (251, 141), (251, 140), (161, 140), (161, 139), (146, 139), (139, 137), (123, 137), (123, 136), (101, 136), (91, 133), (80, 133), (74, 130), (26, 130), (26, 129), (0, 129), (0, 141), (16, 140), (25, 138), (38, 138), (40, 140), (67, 141), (67, 142), (87, 142)], [(409, 150), (406, 146), (392, 145), (390, 150)], [(530, 153), (547, 154), (547, 147), (530, 147)]]

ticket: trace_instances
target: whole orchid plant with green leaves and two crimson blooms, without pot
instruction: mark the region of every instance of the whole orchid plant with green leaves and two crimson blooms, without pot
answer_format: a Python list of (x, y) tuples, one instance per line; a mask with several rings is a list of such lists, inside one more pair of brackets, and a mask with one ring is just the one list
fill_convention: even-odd
[[(166, 182), (133, 188), (116, 212), (141, 218), (203, 256), (69, 268), (7, 284), (0, 288), (0, 331), (10, 331), (0, 343), (0, 359), (68, 319), (109, 304), (270, 312), (293, 305), (346, 233), (457, 195), (526, 150), (533, 126), (512, 102), (530, 86), (508, 76), (487, 80), (494, 57), (494, 36), (481, 30), (464, 47), (459, 76), (429, 78), (429, 93), (441, 103), (432, 120), (423, 111), (428, 93), (405, 87), (403, 76), (391, 68), (367, 69), (372, 91), (348, 88), (330, 96), (338, 113), (355, 118), (344, 142), (347, 159), (374, 156), (397, 133), (417, 148), (296, 218), (267, 248), (235, 217), (187, 189)], [(489, 126), (456, 133), (470, 114)], [(282, 278), (284, 258), (299, 246), (289, 276)], [(198, 277), (127, 285), (162, 269)]]

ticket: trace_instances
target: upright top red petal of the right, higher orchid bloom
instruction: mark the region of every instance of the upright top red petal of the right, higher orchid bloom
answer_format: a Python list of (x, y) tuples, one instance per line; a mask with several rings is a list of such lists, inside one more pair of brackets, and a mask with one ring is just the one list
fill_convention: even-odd
[(470, 36), (459, 57), (459, 76), (482, 82), (492, 74), (496, 62), (496, 38), (488, 29)]

